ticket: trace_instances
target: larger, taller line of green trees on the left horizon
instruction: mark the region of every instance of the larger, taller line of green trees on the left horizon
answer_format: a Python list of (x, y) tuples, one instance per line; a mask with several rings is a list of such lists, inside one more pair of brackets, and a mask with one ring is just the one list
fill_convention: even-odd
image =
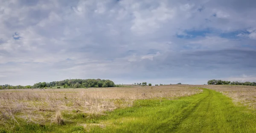
[(53, 82), (39, 82), (35, 83), (33, 86), (11, 86), (3, 85), (0, 89), (36, 89), (36, 88), (52, 88), (53, 86), (63, 86), (63, 88), (90, 88), (90, 87), (115, 87), (115, 83), (111, 80), (101, 80), (101, 79), (66, 79), (61, 81)]

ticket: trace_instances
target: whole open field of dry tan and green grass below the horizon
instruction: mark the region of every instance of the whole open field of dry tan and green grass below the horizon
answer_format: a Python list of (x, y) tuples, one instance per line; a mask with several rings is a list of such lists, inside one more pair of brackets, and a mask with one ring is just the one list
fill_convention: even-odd
[(217, 85), (0, 90), (0, 133), (253, 133), (255, 92)]

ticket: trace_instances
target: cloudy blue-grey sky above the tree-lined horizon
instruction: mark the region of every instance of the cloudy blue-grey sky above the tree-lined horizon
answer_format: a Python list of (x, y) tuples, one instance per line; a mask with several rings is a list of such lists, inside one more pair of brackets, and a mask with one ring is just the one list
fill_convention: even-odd
[(0, 0), (0, 84), (256, 82), (256, 0)]

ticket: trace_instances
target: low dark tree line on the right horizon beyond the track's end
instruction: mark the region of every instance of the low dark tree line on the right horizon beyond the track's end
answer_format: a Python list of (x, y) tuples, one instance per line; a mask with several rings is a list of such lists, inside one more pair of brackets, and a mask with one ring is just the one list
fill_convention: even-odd
[(255, 82), (238, 82), (238, 81), (224, 81), (224, 80), (209, 80), (208, 85), (243, 85), (243, 86), (256, 86)]

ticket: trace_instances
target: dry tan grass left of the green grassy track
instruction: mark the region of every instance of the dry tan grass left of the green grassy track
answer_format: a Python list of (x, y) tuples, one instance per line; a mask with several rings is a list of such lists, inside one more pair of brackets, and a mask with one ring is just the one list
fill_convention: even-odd
[(200, 92), (187, 86), (0, 90), (0, 125), (9, 119), (16, 121), (15, 117), (38, 124), (63, 124), (62, 111), (101, 115), (104, 111), (130, 107), (137, 99), (184, 97)]

